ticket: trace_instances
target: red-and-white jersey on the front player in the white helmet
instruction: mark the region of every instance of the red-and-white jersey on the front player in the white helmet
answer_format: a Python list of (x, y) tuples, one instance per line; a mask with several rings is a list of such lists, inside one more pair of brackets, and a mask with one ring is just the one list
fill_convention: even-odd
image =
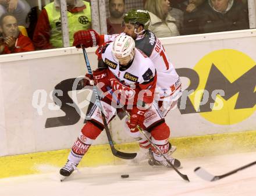
[[(135, 49), (131, 65), (126, 70), (120, 69), (118, 59), (112, 55), (112, 48), (113, 42), (110, 42), (97, 50), (105, 65), (108, 66), (108, 79), (112, 90), (125, 105), (128, 103), (137, 105), (138, 101), (150, 105), (154, 99), (157, 83), (154, 63), (139, 49)], [(134, 100), (134, 103), (129, 102), (129, 99)]]

